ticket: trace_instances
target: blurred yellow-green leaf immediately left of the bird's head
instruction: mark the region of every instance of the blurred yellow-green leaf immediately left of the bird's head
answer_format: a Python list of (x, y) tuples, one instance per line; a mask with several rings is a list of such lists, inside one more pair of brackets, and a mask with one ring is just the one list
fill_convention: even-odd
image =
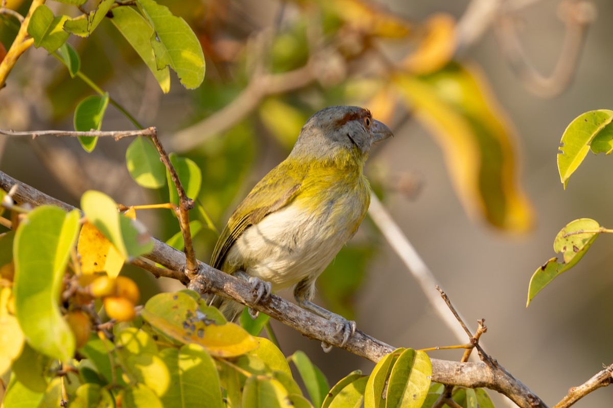
[(288, 151), (292, 149), (308, 116), (279, 98), (262, 102), (259, 114), (268, 131)]

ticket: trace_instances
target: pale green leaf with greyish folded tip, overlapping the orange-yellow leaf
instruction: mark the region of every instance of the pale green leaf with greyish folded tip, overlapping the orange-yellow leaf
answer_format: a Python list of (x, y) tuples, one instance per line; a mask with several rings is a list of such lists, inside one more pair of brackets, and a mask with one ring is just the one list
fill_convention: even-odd
[(104, 234), (126, 258), (146, 254), (153, 242), (142, 224), (117, 211), (112, 198), (100, 191), (89, 190), (81, 197), (81, 209), (87, 220)]

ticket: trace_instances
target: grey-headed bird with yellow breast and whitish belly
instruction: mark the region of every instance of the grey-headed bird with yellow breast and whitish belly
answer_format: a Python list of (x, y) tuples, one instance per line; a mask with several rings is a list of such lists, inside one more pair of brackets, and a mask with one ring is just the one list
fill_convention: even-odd
[[(313, 114), (289, 156), (232, 213), (211, 266), (251, 283), (255, 303), (294, 287), (297, 304), (333, 322), (344, 346), (356, 323), (311, 299), (318, 276), (364, 220), (371, 193), (365, 161), (371, 145), (390, 136), (389, 127), (359, 106), (330, 106)], [(210, 303), (228, 321), (236, 321), (244, 308), (219, 296)]]

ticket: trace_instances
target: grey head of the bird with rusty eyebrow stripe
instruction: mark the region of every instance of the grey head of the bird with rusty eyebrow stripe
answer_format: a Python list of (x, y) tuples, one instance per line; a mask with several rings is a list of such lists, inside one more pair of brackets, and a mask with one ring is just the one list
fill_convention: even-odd
[(389, 127), (373, 119), (368, 109), (330, 106), (308, 119), (289, 157), (361, 165), (370, 146), (389, 136)]

